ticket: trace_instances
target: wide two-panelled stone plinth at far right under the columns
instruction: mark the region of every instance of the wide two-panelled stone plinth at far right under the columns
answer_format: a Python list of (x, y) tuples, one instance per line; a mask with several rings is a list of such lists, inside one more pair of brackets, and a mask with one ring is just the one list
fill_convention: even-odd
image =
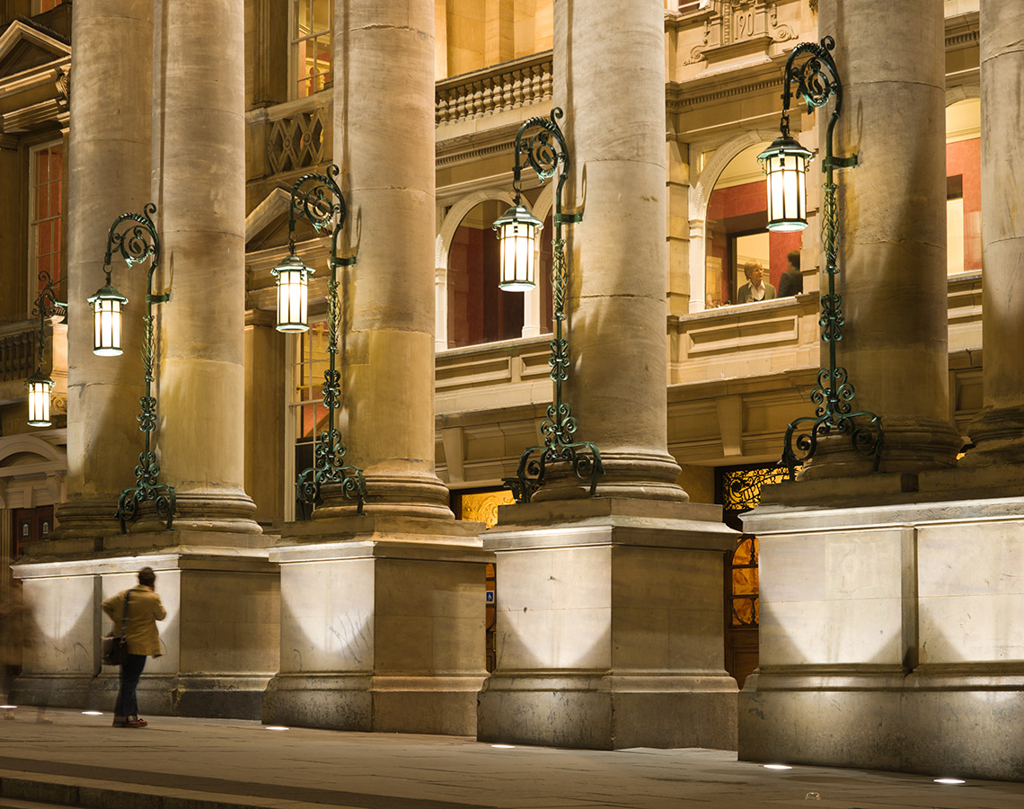
[(763, 490), (740, 759), (1024, 777), (1024, 492), (969, 498), (993, 472), (831, 481), (829, 508)]

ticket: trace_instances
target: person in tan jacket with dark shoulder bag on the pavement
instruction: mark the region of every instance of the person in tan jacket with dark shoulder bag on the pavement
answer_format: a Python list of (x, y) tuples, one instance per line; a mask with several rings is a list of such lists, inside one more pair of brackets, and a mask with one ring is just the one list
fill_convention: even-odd
[(138, 716), (138, 701), (135, 688), (145, 666), (146, 655), (160, 657), (160, 635), (157, 621), (167, 617), (167, 610), (160, 603), (160, 596), (154, 591), (157, 574), (152, 567), (138, 571), (138, 584), (111, 596), (102, 603), (103, 612), (114, 621), (115, 631), (125, 620), (125, 642), (128, 654), (121, 666), (121, 688), (114, 706), (114, 727), (144, 728), (146, 721)]

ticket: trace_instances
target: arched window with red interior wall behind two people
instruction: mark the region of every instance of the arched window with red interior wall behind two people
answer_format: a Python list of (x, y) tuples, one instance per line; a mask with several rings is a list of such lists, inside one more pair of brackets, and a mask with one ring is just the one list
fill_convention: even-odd
[(719, 175), (708, 201), (707, 252), (705, 260), (705, 307), (739, 302), (740, 288), (748, 283), (743, 266), (760, 265), (766, 297), (774, 297), (786, 256), (800, 250), (800, 233), (769, 233), (764, 172), (757, 156), (767, 144), (758, 144), (736, 155)]

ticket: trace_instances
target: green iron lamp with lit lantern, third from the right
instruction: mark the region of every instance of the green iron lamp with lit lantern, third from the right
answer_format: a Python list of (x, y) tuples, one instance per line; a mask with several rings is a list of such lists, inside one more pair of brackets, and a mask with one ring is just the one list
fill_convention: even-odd
[(328, 424), (319, 435), (313, 466), (299, 473), (296, 479), (296, 498), (315, 505), (321, 501), (321, 488), (337, 485), (341, 494), (354, 499), (356, 514), (362, 514), (367, 500), (367, 482), (362, 470), (345, 466), (348, 451), (341, 442), (336, 426), (335, 410), (341, 406), (341, 373), (337, 369), (338, 335), (340, 331), (341, 301), (338, 295), (338, 268), (351, 267), (355, 258), (338, 257), (338, 236), (345, 223), (345, 198), (335, 177), (340, 173), (336, 165), (327, 168), (327, 174), (305, 174), (292, 187), (288, 213), (288, 256), (270, 272), (278, 280), (278, 330), (305, 331), (308, 278), (313, 268), (305, 264), (295, 251), (295, 226), (305, 219), (317, 234), (331, 234), (331, 257), (328, 266), (331, 278), (327, 293), (328, 358), (330, 365), (324, 372), (324, 405), (327, 407)]

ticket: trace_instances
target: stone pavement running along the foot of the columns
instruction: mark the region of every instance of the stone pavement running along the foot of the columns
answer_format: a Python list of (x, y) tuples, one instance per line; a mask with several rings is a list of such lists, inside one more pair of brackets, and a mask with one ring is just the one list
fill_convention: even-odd
[[(1022, 809), (1024, 783), (826, 767), (710, 750), (506, 747), (460, 736), (19, 707), (0, 721), (0, 809)], [(936, 776), (946, 773), (936, 773)]]

